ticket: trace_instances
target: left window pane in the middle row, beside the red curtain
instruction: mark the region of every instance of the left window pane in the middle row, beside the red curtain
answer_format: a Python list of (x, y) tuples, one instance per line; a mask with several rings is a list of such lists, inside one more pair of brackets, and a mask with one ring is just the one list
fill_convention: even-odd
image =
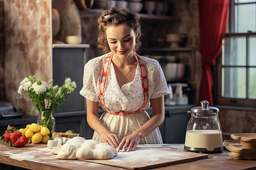
[[(223, 44), (222, 65), (245, 66), (246, 65), (246, 38), (226, 37)], [(223, 49), (223, 48), (222, 48)]]

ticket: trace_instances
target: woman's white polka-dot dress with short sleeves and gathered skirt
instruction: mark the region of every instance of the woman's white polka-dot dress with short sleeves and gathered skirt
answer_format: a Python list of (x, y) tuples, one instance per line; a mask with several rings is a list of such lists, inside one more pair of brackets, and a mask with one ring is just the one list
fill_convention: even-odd
[[(102, 65), (104, 64), (107, 54), (96, 57), (88, 61), (84, 67), (84, 84), (80, 94), (91, 101), (100, 100), (100, 76)], [(163, 71), (155, 59), (141, 57), (146, 65), (148, 73), (149, 99), (155, 99), (166, 95), (169, 92)], [(121, 88), (115, 76), (112, 62), (109, 65), (108, 79), (106, 81), (105, 104), (112, 112), (127, 111), (134, 112), (143, 104), (143, 88), (139, 66), (134, 76), (134, 80), (124, 84)], [(100, 103), (100, 101), (99, 101)], [(142, 108), (146, 110), (150, 107), (150, 102)], [(127, 114), (123, 117), (120, 115), (109, 114), (105, 112), (100, 117), (102, 124), (113, 134), (117, 134), (119, 141), (127, 135), (132, 134), (135, 130), (143, 126), (150, 117), (146, 111), (135, 114)], [(100, 135), (95, 131), (93, 139), (101, 141)], [(163, 143), (159, 128), (156, 128), (146, 137), (141, 139), (140, 144)]]

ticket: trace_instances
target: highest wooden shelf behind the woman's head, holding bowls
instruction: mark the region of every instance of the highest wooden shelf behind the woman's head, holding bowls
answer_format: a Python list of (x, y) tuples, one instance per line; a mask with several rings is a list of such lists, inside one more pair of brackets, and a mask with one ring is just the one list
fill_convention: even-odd
[[(100, 9), (92, 9), (89, 11), (86, 10), (79, 10), (80, 16), (83, 17), (98, 17), (101, 15), (102, 12), (106, 10), (100, 10)], [(138, 13), (139, 16), (141, 16), (141, 19), (144, 20), (155, 20), (155, 21), (171, 21), (171, 22), (176, 22), (179, 21), (180, 18), (176, 16), (164, 16), (164, 15), (150, 15), (150, 14), (141, 14)]]

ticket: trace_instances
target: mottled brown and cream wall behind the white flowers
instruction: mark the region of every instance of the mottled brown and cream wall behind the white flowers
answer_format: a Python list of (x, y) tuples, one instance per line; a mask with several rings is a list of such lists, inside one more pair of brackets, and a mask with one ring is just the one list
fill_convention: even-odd
[(4, 9), (6, 100), (32, 110), (31, 99), (17, 91), (28, 75), (52, 78), (51, 1), (5, 0)]

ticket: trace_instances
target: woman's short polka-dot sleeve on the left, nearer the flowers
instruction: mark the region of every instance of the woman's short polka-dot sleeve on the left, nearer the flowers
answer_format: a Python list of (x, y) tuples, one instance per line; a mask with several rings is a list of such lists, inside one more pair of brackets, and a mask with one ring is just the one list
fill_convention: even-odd
[(100, 100), (99, 79), (101, 75), (101, 58), (93, 58), (84, 66), (83, 87), (80, 94), (90, 101)]

